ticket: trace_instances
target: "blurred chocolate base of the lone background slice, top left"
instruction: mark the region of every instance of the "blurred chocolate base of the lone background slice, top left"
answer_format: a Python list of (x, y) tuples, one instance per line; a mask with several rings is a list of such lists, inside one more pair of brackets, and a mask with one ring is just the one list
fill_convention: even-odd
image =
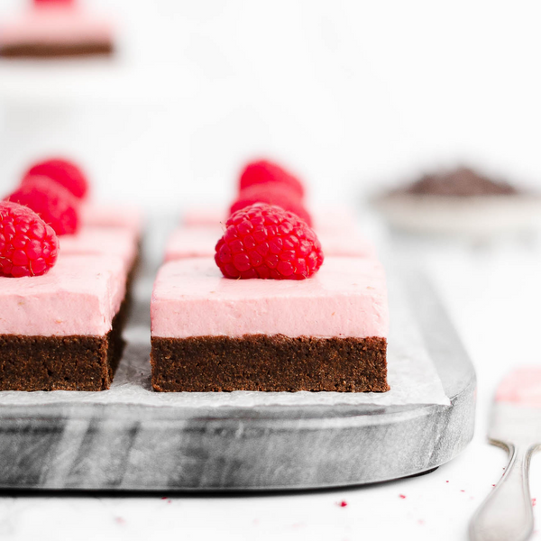
[(6, 58), (58, 58), (101, 56), (113, 53), (113, 44), (103, 43), (18, 43), (4, 45), (0, 56)]

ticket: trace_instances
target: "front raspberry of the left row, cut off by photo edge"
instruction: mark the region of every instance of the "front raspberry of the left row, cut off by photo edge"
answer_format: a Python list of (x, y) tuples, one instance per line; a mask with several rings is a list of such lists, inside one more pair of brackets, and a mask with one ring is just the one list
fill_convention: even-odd
[(0, 201), (0, 276), (39, 276), (55, 264), (59, 239), (30, 208)]

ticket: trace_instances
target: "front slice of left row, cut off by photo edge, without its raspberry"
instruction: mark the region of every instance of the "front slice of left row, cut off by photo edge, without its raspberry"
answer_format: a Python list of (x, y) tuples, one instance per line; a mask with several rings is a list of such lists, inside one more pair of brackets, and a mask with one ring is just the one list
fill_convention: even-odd
[(123, 350), (124, 261), (61, 254), (41, 276), (0, 277), (0, 390), (105, 390)]

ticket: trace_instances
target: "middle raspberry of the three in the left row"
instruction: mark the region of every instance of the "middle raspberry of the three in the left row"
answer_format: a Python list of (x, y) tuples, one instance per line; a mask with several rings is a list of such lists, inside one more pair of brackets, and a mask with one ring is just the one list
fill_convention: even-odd
[(56, 234), (74, 234), (78, 231), (78, 198), (60, 184), (50, 182), (50, 179), (28, 178), (5, 199), (32, 208)]

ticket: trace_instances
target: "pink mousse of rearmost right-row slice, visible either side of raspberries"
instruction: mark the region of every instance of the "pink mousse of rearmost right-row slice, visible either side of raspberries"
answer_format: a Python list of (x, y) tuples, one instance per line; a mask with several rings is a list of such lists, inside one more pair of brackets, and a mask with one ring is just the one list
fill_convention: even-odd
[[(310, 209), (309, 209), (310, 210)], [(347, 207), (328, 207), (311, 211), (316, 233), (348, 234), (356, 227), (355, 216)], [(182, 224), (193, 226), (220, 226), (227, 221), (227, 209), (221, 206), (191, 208), (182, 215)]]

